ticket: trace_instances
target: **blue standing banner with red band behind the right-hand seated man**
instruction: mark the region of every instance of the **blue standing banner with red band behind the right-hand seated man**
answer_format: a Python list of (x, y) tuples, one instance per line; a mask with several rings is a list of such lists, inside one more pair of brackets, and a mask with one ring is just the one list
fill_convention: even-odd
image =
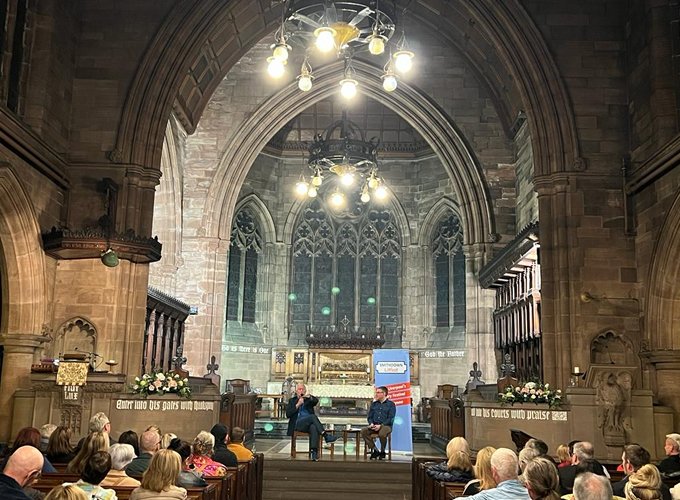
[(375, 386), (385, 386), (388, 397), (397, 407), (392, 427), (392, 451), (413, 453), (411, 429), (411, 369), (408, 351), (376, 349), (373, 351)]

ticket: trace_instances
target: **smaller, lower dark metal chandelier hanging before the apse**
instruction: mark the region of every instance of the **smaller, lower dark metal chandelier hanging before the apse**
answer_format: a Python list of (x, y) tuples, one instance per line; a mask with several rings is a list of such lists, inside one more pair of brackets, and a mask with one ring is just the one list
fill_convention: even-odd
[(379, 144), (375, 137), (366, 140), (364, 132), (343, 112), (341, 120), (314, 136), (307, 160), (310, 174), (300, 175), (295, 192), (316, 198), (320, 191), (332, 190), (326, 200), (336, 209), (347, 206), (351, 193), (357, 193), (364, 204), (372, 198), (384, 199), (387, 188), (378, 173)]

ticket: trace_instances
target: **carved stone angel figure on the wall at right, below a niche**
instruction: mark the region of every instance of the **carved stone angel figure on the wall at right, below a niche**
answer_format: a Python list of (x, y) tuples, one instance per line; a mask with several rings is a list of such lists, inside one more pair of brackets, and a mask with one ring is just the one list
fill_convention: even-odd
[(608, 446), (626, 443), (626, 419), (630, 413), (632, 377), (627, 372), (603, 372), (594, 384), (597, 425)]

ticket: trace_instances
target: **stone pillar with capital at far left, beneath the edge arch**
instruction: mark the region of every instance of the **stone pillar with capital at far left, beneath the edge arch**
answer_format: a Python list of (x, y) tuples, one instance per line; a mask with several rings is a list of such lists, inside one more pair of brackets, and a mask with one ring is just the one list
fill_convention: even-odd
[(13, 437), (10, 436), (10, 431), (14, 391), (29, 387), (35, 354), (42, 348), (43, 342), (48, 340), (50, 338), (44, 335), (23, 333), (6, 333), (2, 337), (5, 350), (0, 379), (0, 443), (6, 443)]

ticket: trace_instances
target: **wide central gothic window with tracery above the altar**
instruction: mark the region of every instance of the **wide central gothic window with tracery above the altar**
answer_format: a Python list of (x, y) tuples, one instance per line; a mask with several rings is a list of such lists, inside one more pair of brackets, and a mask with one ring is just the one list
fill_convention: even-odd
[(293, 325), (394, 328), (399, 317), (401, 238), (383, 207), (334, 214), (314, 200), (293, 234)]

